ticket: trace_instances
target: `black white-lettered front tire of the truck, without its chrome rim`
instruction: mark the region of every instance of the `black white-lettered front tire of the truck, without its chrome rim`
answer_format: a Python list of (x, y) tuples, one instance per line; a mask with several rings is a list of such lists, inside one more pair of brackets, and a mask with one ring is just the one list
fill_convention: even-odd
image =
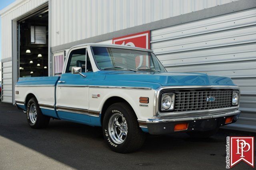
[[(112, 139), (109, 132), (110, 118), (118, 114), (124, 117), (128, 130), (124, 141), (119, 144)], [(128, 153), (138, 150), (144, 144), (146, 138), (146, 134), (139, 127), (134, 111), (126, 103), (115, 103), (108, 107), (103, 118), (102, 129), (106, 143), (111, 150), (118, 153)]]

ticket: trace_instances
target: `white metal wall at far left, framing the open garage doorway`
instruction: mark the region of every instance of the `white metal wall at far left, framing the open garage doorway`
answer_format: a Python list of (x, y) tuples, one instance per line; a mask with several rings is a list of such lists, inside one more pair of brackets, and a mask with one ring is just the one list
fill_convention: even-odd
[[(25, 0), (4, 14), (1, 14), (2, 59), (12, 58), (12, 20), (47, 1)], [(2, 63), (2, 91), (2, 101), (12, 103), (12, 61)]]

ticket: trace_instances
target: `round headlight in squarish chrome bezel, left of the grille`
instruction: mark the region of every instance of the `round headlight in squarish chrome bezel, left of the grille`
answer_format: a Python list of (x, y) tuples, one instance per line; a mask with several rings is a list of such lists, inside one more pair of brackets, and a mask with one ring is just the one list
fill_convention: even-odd
[(161, 110), (162, 111), (171, 111), (174, 109), (174, 93), (164, 93), (161, 98)]

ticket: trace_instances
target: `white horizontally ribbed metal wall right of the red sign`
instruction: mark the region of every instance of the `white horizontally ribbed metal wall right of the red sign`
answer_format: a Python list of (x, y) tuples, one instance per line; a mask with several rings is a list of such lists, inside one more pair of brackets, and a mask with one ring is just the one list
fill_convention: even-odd
[(154, 30), (151, 48), (168, 71), (231, 77), (242, 114), (230, 127), (256, 131), (256, 9)]

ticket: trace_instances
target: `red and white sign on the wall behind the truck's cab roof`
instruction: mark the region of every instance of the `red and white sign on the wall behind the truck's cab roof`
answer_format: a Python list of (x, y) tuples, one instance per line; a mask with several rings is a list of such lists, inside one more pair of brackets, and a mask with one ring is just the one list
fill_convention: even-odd
[(150, 31), (114, 38), (113, 44), (150, 49)]

